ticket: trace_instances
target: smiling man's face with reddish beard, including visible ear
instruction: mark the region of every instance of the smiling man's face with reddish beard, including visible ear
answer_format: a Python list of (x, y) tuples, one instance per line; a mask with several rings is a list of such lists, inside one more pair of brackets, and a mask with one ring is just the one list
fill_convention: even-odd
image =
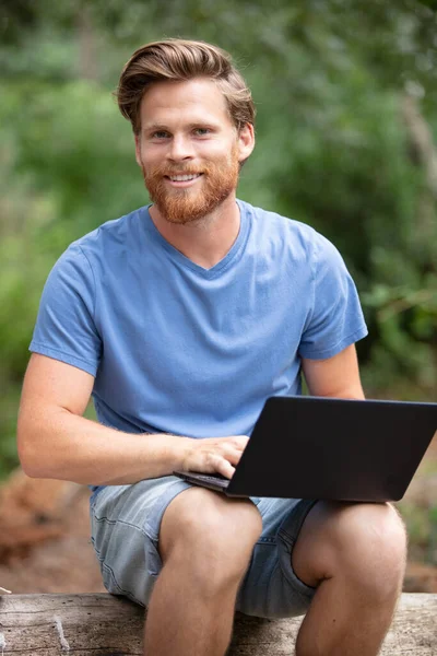
[(238, 133), (212, 80), (157, 82), (141, 103), (137, 162), (151, 199), (170, 223), (210, 214), (235, 194), (253, 129)]

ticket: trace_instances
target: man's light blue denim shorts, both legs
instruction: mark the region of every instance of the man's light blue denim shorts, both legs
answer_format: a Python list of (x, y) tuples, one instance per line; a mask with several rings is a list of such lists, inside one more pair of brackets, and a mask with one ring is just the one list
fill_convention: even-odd
[[(157, 549), (167, 505), (191, 487), (177, 477), (108, 485), (90, 500), (92, 543), (106, 589), (147, 606), (162, 569)], [(211, 492), (218, 494), (218, 492)], [(315, 500), (251, 497), (262, 516), (262, 535), (241, 581), (236, 610), (261, 618), (304, 614), (316, 588), (292, 567), (292, 550)]]

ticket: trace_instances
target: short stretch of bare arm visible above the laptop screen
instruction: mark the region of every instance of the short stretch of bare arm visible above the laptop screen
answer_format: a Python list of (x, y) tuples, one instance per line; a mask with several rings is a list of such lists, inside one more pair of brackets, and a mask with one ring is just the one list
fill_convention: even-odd
[(302, 367), (312, 396), (364, 399), (355, 344), (327, 360), (303, 358)]

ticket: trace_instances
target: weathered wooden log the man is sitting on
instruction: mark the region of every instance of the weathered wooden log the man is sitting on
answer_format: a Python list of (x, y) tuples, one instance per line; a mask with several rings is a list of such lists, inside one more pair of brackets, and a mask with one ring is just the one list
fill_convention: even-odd
[[(236, 613), (228, 656), (291, 655), (302, 620)], [(107, 594), (0, 596), (0, 656), (143, 656), (143, 623), (144, 609)], [(401, 654), (437, 655), (437, 595), (402, 595), (381, 656)]]

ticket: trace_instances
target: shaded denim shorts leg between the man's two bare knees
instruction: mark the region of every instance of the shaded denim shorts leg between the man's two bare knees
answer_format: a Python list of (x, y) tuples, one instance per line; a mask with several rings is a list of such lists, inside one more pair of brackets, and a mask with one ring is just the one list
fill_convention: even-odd
[(314, 500), (261, 499), (263, 530), (241, 582), (236, 609), (250, 616), (285, 618), (304, 614), (316, 588), (292, 567), (292, 551)]

